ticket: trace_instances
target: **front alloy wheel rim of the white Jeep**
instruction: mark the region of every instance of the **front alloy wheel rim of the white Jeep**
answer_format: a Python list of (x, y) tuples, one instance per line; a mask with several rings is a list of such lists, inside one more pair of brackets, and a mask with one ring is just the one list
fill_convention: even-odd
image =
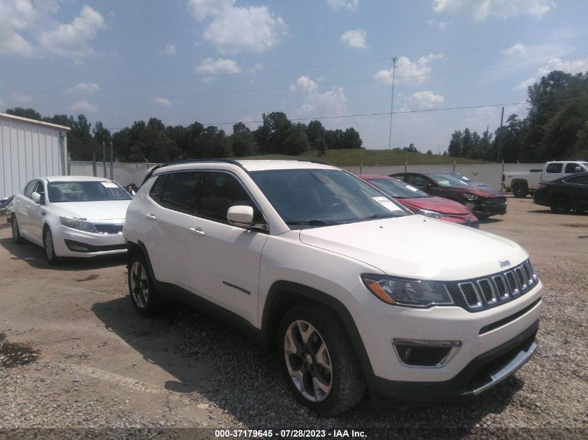
[(333, 385), (333, 368), (317, 329), (304, 320), (290, 324), (284, 338), (284, 355), (296, 389), (311, 402), (325, 400)]

